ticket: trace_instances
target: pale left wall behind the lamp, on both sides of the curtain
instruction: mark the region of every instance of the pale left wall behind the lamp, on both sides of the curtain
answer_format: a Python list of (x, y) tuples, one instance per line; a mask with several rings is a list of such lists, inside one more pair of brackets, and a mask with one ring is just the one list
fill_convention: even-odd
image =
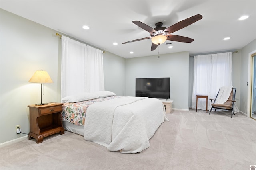
[[(56, 30), (0, 9), (0, 143), (29, 133), (29, 108), (41, 102), (41, 85), (28, 80), (46, 70), (54, 83), (44, 84), (43, 102), (60, 102), (61, 39)], [(105, 89), (125, 93), (125, 59), (106, 53)], [(112, 83), (113, 82), (113, 83)]]

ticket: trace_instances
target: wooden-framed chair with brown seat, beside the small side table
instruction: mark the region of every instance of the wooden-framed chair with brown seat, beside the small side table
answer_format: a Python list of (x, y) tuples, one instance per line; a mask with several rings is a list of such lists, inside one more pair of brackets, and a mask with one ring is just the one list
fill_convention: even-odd
[[(219, 90), (219, 92), (220, 92), (220, 90)], [(218, 94), (219, 94), (219, 92), (218, 92)], [(217, 94), (217, 96), (218, 96), (218, 94)], [(216, 96), (216, 98), (217, 98), (217, 96)], [(235, 115), (235, 113), (233, 112), (234, 102), (236, 102), (235, 96), (236, 96), (236, 88), (233, 88), (231, 90), (228, 100), (224, 104), (215, 104), (216, 98), (209, 99), (209, 100), (211, 100), (211, 103), (212, 103), (212, 100), (214, 100), (214, 102), (212, 103), (212, 108), (214, 108), (215, 111), (216, 111), (216, 109), (229, 110), (229, 111), (231, 111), (231, 118), (232, 118), (233, 114)], [(210, 113), (212, 111), (212, 108), (210, 110)], [(210, 115), (210, 113), (209, 113), (209, 115)]]

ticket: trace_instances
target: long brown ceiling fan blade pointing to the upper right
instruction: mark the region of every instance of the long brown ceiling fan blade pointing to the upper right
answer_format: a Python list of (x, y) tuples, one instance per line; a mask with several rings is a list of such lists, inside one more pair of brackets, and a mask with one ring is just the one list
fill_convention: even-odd
[(182, 20), (182, 21), (180, 21), (180, 22), (178, 22), (178, 23), (175, 23), (174, 25), (172, 25), (172, 26), (166, 28), (166, 29), (164, 30), (164, 32), (168, 32), (168, 34), (173, 33), (173, 32), (175, 32), (175, 31), (178, 31), (178, 30), (180, 30), (180, 29), (182, 29), (182, 28), (188, 26), (188, 25), (191, 25), (192, 23), (195, 23), (195, 22), (198, 21), (198, 20), (201, 20), (202, 18), (203, 18), (202, 15), (197, 14), (197, 15), (195, 15), (195, 16), (192, 16), (192, 17), (190, 17), (190, 18), (187, 18), (187, 19), (185, 19), (185, 20)]

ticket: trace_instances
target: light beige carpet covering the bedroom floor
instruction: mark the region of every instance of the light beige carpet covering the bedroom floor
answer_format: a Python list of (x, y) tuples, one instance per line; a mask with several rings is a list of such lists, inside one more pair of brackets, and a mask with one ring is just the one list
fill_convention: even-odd
[[(209, 112), (208, 112), (209, 113)], [(172, 111), (137, 154), (110, 152), (70, 133), (40, 144), (24, 139), (0, 148), (1, 170), (249, 170), (256, 165), (256, 121), (237, 113)]]

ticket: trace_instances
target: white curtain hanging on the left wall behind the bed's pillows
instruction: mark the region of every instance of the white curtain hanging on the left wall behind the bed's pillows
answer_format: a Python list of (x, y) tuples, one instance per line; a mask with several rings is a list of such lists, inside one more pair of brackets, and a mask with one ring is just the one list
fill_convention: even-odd
[(102, 53), (62, 35), (61, 98), (104, 90)]

